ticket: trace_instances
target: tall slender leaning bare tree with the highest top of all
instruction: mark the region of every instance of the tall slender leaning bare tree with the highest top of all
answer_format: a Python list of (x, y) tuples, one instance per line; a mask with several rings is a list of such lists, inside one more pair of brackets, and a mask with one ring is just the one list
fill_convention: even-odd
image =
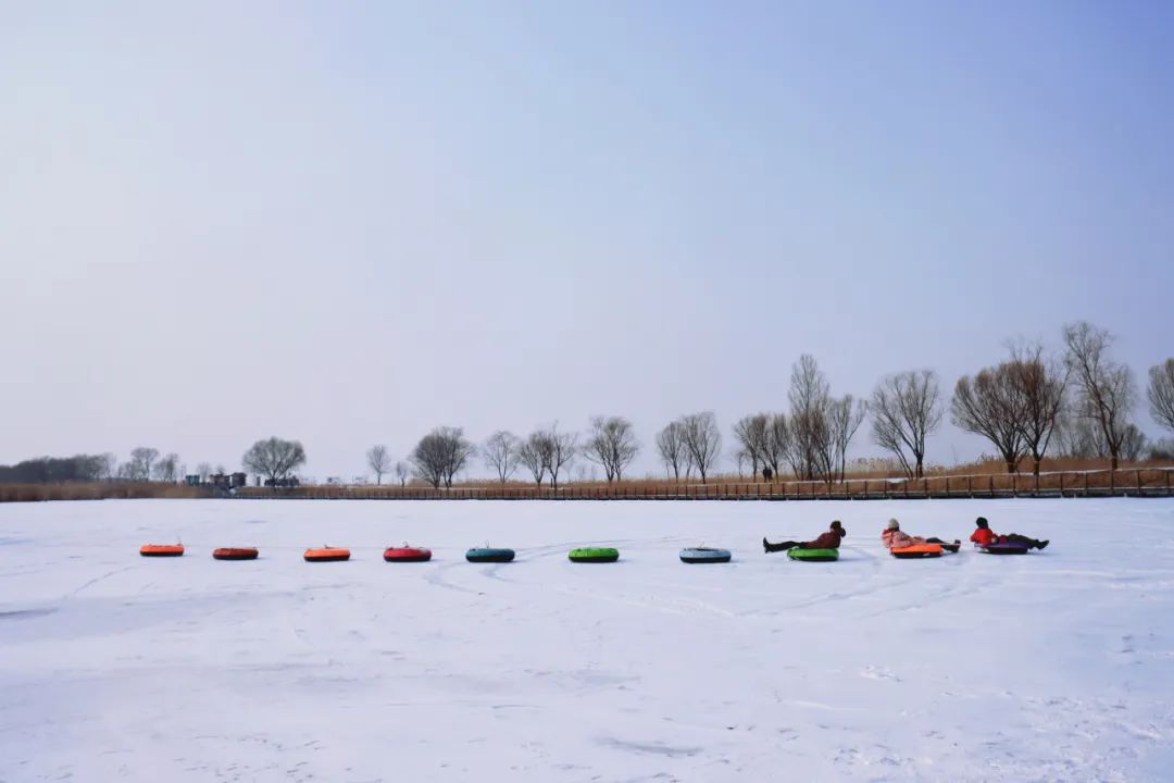
[(1129, 437), (1129, 414), (1136, 404), (1133, 373), (1108, 357), (1113, 336), (1085, 320), (1064, 328), (1065, 362), (1077, 387), (1079, 414), (1092, 419), (1115, 471)]

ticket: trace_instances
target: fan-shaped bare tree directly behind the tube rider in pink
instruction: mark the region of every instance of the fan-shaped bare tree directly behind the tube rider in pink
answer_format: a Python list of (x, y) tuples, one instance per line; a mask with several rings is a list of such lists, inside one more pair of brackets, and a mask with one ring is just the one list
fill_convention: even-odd
[(872, 439), (892, 452), (910, 478), (925, 474), (925, 439), (942, 423), (939, 399), (932, 370), (889, 376), (872, 391)]

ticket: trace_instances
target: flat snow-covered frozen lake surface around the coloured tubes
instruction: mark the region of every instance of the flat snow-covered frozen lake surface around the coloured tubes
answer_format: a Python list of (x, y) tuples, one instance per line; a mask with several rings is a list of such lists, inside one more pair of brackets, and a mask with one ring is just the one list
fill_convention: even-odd
[[(978, 514), (1052, 545), (882, 549)], [(834, 518), (839, 562), (762, 552)], [(383, 562), (405, 540), (434, 560)], [(1172, 748), (1174, 501), (0, 506), (4, 783), (1133, 782)]]

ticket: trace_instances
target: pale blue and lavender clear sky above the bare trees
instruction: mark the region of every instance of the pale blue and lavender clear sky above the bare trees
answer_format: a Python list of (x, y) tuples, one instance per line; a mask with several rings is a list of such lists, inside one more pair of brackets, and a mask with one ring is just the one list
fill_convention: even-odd
[(622, 414), (646, 473), (802, 353), (949, 396), (1075, 319), (1140, 384), (1172, 139), (1165, 2), (0, 1), (0, 463)]

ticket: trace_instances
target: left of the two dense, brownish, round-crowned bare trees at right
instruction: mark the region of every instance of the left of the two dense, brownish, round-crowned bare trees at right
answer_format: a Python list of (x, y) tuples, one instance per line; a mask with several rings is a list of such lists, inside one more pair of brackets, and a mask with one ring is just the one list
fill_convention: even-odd
[(990, 440), (1003, 457), (1007, 473), (1014, 473), (1024, 454), (1024, 401), (1010, 362), (985, 367), (971, 380), (958, 379), (951, 419), (966, 432)]

